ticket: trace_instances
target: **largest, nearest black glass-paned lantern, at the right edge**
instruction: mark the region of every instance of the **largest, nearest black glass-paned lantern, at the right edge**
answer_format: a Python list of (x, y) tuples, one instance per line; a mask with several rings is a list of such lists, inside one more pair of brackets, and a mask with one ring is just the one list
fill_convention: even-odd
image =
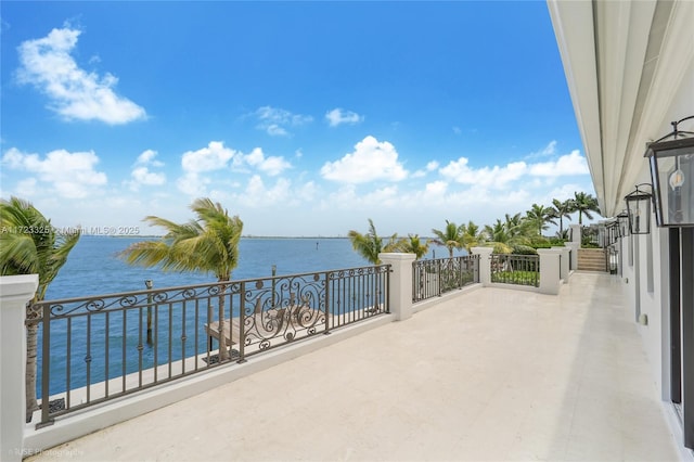
[(694, 132), (678, 130), (679, 124), (690, 119), (694, 116), (671, 123), (672, 132), (646, 150), (659, 227), (694, 227)]

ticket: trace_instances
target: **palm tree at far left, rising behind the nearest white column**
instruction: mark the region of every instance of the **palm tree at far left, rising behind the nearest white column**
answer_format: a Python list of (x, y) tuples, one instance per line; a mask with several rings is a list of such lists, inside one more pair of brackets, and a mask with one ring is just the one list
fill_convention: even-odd
[[(31, 203), (11, 197), (0, 200), (0, 274), (38, 274), (39, 285), (34, 303), (46, 297), (46, 291), (67, 261), (69, 252), (79, 241), (80, 231), (61, 232), (51, 226)], [(41, 313), (27, 309), (26, 328), (26, 421), (37, 410), (36, 358), (38, 341), (37, 320)], [(48, 402), (43, 403), (48, 406)]]

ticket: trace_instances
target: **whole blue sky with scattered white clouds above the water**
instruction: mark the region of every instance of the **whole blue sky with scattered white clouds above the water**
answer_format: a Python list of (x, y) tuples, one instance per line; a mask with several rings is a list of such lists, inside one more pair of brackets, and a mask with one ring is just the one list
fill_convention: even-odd
[(209, 196), (244, 234), (429, 235), (594, 193), (544, 2), (0, 8), (0, 193), (56, 227)]

